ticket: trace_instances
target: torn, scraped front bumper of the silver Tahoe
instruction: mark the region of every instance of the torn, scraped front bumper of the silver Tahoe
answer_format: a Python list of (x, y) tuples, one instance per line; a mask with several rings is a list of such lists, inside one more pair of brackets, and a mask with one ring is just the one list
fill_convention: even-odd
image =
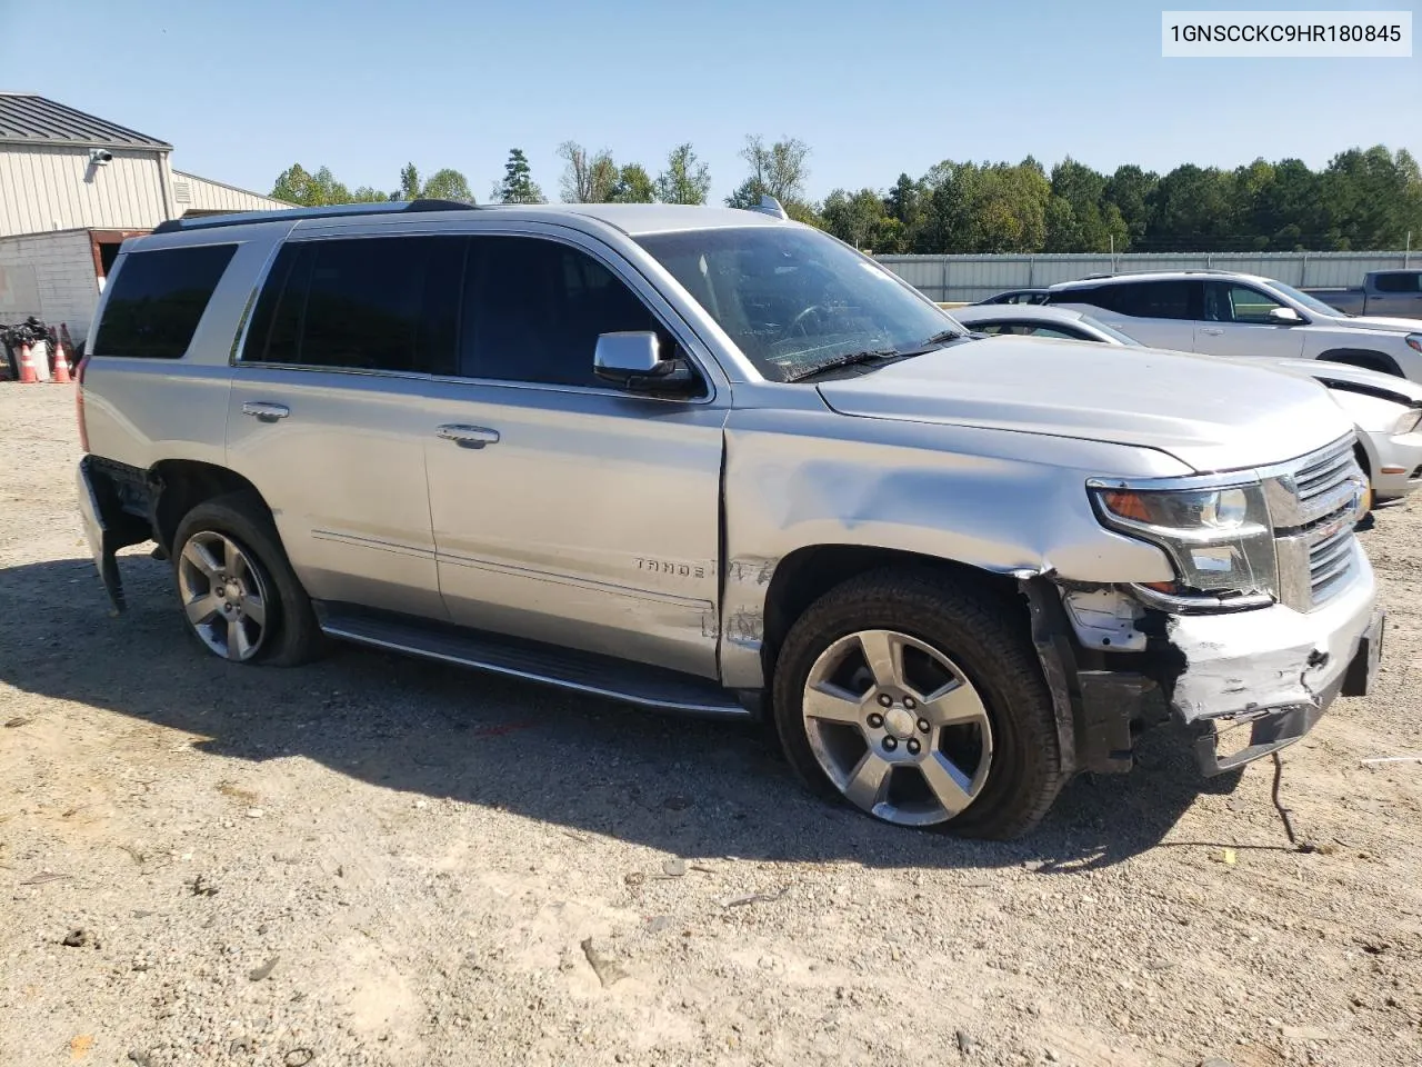
[[(1220, 774), (1297, 741), (1340, 694), (1376, 679), (1385, 619), (1361, 549), (1347, 589), (1313, 612), (1283, 605), (1237, 615), (1180, 615), (1166, 642), (1180, 657), (1170, 710), (1196, 733), (1204, 774)], [(1247, 744), (1221, 754), (1249, 730)], [(1221, 744), (1224, 743), (1224, 744)]]

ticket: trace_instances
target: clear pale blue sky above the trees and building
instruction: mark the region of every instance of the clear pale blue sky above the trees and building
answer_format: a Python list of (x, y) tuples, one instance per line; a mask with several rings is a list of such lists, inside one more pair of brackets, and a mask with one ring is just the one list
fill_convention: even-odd
[[(1405, 9), (1291, 4), (1389, 6)], [(392, 189), (414, 161), (464, 171), (482, 201), (518, 145), (556, 198), (569, 138), (653, 174), (691, 141), (715, 198), (744, 176), (747, 134), (806, 141), (815, 198), (946, 158), (1163, 172), (1320, 166), (1378, 142), (1422, 156), (1416, 48), (1165, 60), (1162, 7), (1220, 4), (0, 0), (0, 88), (171, 141), (179, 169), (262, 192), (297, 161)]]

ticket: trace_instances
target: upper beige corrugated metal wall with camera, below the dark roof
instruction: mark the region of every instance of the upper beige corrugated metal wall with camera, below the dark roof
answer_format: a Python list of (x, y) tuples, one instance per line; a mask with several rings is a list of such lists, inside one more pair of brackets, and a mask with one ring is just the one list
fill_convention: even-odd
[(165, 154), (0, 145), (0, 236), (75, 229), (149, 229), (168, 218)]

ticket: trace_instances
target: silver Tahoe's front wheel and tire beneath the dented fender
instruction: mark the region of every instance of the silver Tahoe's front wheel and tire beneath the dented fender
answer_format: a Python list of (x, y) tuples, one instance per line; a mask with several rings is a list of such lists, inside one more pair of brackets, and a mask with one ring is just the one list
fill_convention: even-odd
[(850, 579), (795, 622), (774, 714), (812, 790), (884, 822), (1012, 838), (1062, 785), (1051, 694), (1025, 615), (940, 573)]

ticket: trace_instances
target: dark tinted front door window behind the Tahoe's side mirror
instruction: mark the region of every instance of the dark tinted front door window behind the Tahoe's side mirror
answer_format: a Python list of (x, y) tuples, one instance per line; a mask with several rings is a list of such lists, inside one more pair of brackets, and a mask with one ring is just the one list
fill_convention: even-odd
[(538, 238), (475, 238), (459, 373), (549, 386), (607, 383), (593, 374), (597, 334), (653, 330), (671, 339), (607, 267)]

